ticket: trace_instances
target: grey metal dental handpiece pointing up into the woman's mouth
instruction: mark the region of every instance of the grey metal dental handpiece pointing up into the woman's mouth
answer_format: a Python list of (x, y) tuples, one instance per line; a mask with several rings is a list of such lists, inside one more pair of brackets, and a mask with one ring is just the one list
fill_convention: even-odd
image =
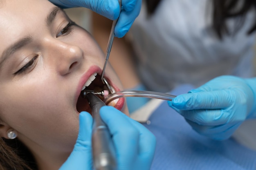
[(92, 155), (95, 170), (116, 170), (115, 148), (107, 125), (101, 120), (99, 110), (106, 104), (93, 93), (86, 98), (92, 108), (94, 118), (92, 128)]

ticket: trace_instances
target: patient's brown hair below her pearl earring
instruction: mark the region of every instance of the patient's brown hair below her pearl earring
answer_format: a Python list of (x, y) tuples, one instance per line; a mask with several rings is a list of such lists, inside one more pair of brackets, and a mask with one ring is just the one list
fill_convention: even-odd
[(31, 152), (18, 139), (0, 138), (0, 170), (36, 170)]

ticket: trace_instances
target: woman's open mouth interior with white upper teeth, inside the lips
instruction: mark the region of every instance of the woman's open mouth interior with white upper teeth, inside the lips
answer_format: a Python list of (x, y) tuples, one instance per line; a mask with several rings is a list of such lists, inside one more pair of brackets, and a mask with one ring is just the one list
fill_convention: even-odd
[[(103, 84), (101, 80), (101, 75), (98, 75), (94, 73), (88, 81), (85, 83), (84, 89), (82, 89), (81, 94), (79, 95), (77, 104), (76, 104), (76, 110), (80, 113), (81, 111), (87, 111), (91, 113), (91, 108), (88, 104), (87, 99), (83, 95), (83, 91), (94, 91), (94, 92), (102, 92), (102, 91), (108, 91), (108, 87)], [(104, 100), (103, 95), (97, 95), (102, 101)]]

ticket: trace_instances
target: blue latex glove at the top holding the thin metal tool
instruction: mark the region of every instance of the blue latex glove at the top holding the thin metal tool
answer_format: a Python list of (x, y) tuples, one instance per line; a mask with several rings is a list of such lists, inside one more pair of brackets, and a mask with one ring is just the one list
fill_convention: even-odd
[[(103, 15), (110, 20), (116, 20), (120, 13), (118, 0), (49, 0), (59, 7), (85, 7)], [(122, 0), (119, 20), (115, 27), (115, 36), (123, 37), (139, 15), (141, 0)]]

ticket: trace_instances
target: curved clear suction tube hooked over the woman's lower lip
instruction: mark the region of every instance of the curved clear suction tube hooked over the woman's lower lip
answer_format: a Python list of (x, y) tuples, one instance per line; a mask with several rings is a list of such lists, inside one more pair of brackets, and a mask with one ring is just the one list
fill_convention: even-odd
[(115, 99), (119, 99), (121, 97), (147, 97), (154, 99), (163, 99), (172, 101), (175, 98), (175, 95), (169, 95), (167, 93), (159, 93), (154, 91), (119, 91), (108, 95), (104, 99), (104, 103), (106, 105), (110, 104)]

